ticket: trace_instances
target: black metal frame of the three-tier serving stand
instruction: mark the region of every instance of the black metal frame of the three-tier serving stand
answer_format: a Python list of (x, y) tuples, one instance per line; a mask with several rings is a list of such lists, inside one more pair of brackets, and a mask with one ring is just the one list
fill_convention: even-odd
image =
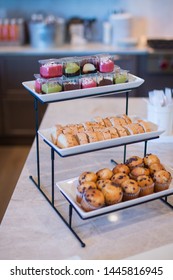
[[(113, 94), (113, 93), (112, 93)], [(129, 91), (126, 91), (126, 114), (128, 115), (128, 98), (129, 98)], [(33, 178), (33, 176), (29, 176), (29, 178), (31, 179), (31, 181), (34, 183), (34, 185), (37, 187), (37, 189), (41, 192), (41, 194), (45, 197), (45, 199), (47, 200), (47, 202), (51, 205), (51, 207), (55, 210), (55, 212), (58, 214), (58, 216), (62, 219), (62, 221), (65, 223), (65, 225), (69, 228), (69, 230), (73, 233), (73, 235), (76, 237), (76, 239), (80, 242), (81, 246), (82, 247), (85, 247), (86, 244), (81, 240), (81, 238), (79, 237), (79, 235), (74, 231), (74, 229), (72, 228), (72, 216), (73, 216), (73, 210), (78, 214), (78, 216), (82, 219), (82, 220), (87, 220), (87, 219), (93, 219), (95, 217), (99, 217), (99, 216), (102, 216), (102, 215), (106, 215), (106, 214), (109, 214), (111, 212), (116, 212), (116, 211), (120, 211), (120, 210), (123, 210), (123, 209), (126, 209), (126, 208), (130, 208), (130, 207), (133, 207), (133, 206), (137, 206), (137, 205), (140, 205), (140, 204), (143, 204), (143, 203), (146, 203), (146, 202), (149, 202), (149, 201), (153, 201), (153, 200), (156, 200), (156, 199), (160, 199), (162, 202), (164, 202), (166, 205), (168, 205), (171, 209), (173, 209), (173, 205), (171, 205), (167, 198), (168, 196), (170, 195), (173, 195), (173, 193), (171, 194), (168, 194), (168, 195), (162, 195), (160, 194), (160, 196), (158, 196), (157, 198), (151, 198), (148, 197), (148, 200), (147, 201), (144, 201), (144, 202), (136, 202), (134, 203), (133, 205), (130, 205), (130, 206), (122, 206), (121, 208), (117, 209), (117, 210), (113, 210), (113, 211), (106, 211), (104, 212), (103, 214), (97, 214), (97, 215), (93, 215), (92, 217), (87, 217), (87, 218), (83, 218), (81, 216), (81, 214), (76, 210), (76, 208), (73, 206), (73, 204), (69, 201), (68, 197), (65, 196), (64, 193), (62, 193), (62, 195), (65, 197), (65, 199), (68, 201), (69, 203), (69, 214), (68, 214), (68, 221), (62, 216), (62, 214), (59, 212), (59, 210), (57, 209), (57, 207), (55, 207), (55, 198), (54, 198), (54, 193), (55, 193), (55, 181), (54, 181), (54, 161), (55, 161), (55, 152), (57, 153), (56, 150), (54, 150), (54, 148), (44, 139), (44, 142), (50, 146), (51, 148), (51, 198), (49, 198), (44, 190), (42, 190), (41, 188), (41, 184), (40, 184), (40, 154), (39, 154), (39, 134), (38, 134), (38, 126), (39, 126), (39, 112), (38, 112), (38, 101), (40, 102), (39, 99), (37, 99), (35, 96), (34, 96), (34, 110), (35, 110), (35, 132), (36, 132), (36, 159), (37, 159), (37, 181), (35, 181), (35, 179)], [(53, 101), (55, 102), (55, 101)], [(44, 102), (41, 102), (44, 104)], [(125, 159), (126, 159), (126, 146), (127, 145), (130, 145), (130, 144), (135, 144), (135, 143), (139, 143), (139, 142), (144, 142), (144, 156), (146, 155), (146, 152), (147, 152), (147, 143), (148, 141), (150, 140), (153, 140), (153, 139), (156, 139), (156, 138), (159, 138), (159, 136), (157, 137), (153, 137), (153, 138), (148, 138), (147, 140), (140, 140), (140, 141), (133, 141), (133, 142), (130, 142), (128, 144), (119, 144), (119, 145), (114, 145), (112, 147), (108, 147), (108, 148), (103, 148), (103, 149), (110, 149), (110, 148), (113, 148), (113, 147), (118, 147), (118, 146), (124, 146), (124, 162), (125, 162)], [(96, 150), (101, 150), (101, 149), (95, 149), (94, 151)], [(93, 152), (93, 151), (92, 151)], [(84, 152), (80, 152), (80, 153), (76, 153), (74, 155), (77, 155), (77, 154), (83, 154)], [(88, 153), (88, 152), (85, 152), (85, 153)], [(60, 155), (60, 154), (59, 154)], [(72, 156), (72, 155), (66, 155), (66, 156), (62, 156), (60, 155), (61, 157), (68, 157), (68, 156)], [(111, 160), (113, 162), (113, 160)]]

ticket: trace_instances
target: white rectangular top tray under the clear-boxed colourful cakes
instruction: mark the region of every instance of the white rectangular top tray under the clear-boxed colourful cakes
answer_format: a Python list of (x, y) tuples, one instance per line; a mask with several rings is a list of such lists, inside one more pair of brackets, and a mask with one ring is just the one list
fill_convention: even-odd
[(95, 88), (88, 88), (88, 89), (78, 89), (78, 90), (69, 90), (69, 91), (61, 91), (61, 92), (55, 92), (55, 93), (49, 93), (49, 94), (38, 94), (34, 89), (34, 83), (35, 81), (27, 81), (23, 82), (22, 85), (37, 99), (39, 99), (41, 102), (53, 102), (53, 101), (63, 101), (63, 100), (69, 100), (69, 99), (75, 99), (75, 98), (81, 98), (81, 97), (87, 97), (87, 96), (93, 96), (93, 95), (105, 95), (106, 93), (119, 93), (122, 91), (129, 91), (134, 88), (139, 87), (141, 84), (143, 84), (144, 80), (134, 76), (132, 74), (129, 74), (129, 81), (127, 83), (122, 84), (114, 84), (109, 86), (100, 86)]

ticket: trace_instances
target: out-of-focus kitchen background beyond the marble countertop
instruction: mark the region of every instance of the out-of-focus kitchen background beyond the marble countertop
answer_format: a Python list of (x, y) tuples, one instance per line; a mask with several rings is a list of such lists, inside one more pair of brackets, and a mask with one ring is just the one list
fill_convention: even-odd
[[(33, 97), (22, 82), (39, 72), (38, 60), (110, 52), (122, 68), (145, 79), (132, 96), (172, 88), (172, 11), (172, 0), (1, 0), (2, 214), (35, 136)], [(39, 121), (45, 110), (39, 107)]]

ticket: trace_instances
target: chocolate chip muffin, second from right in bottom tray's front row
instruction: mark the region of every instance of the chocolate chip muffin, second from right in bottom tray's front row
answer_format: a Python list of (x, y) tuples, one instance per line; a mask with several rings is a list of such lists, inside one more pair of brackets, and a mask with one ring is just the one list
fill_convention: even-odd
[(149, 195), (154, 192), (154, 182), (150, 176), (147, 175), (138, 176), (136, 181), (140, 187), (139, 196)]

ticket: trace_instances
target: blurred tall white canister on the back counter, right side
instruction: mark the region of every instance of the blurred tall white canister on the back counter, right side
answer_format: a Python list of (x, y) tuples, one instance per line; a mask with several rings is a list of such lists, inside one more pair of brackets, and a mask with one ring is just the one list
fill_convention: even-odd
[(112, 45), (132, 37), (132, 16), (128, 13), (112, 14), (109, 18), (112, 26)]

